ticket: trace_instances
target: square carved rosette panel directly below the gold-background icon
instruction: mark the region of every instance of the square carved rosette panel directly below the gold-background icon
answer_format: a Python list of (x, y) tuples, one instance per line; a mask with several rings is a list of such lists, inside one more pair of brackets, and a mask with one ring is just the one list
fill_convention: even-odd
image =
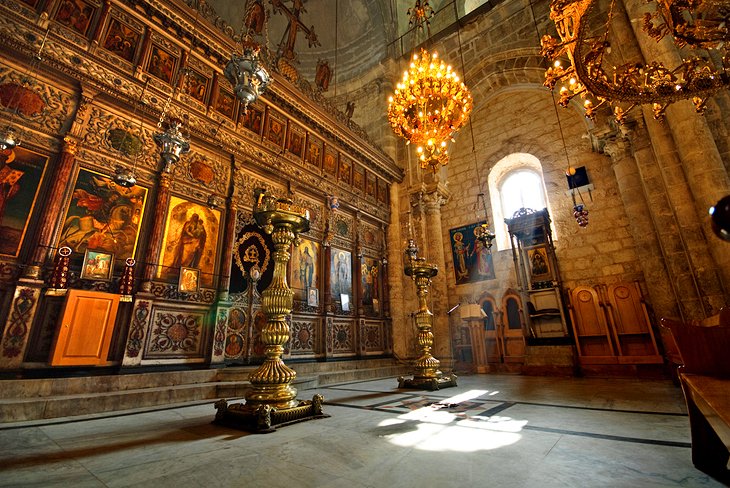
[(144, 359), (203, 357), (205, 311), (153, 307)]

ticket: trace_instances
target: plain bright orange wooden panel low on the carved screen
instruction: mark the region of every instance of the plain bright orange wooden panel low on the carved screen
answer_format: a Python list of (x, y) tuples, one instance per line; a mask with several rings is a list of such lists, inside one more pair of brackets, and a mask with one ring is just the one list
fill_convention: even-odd
[(69, 290), (51, 366), (95, 366), (107, 363), (119, 295)]

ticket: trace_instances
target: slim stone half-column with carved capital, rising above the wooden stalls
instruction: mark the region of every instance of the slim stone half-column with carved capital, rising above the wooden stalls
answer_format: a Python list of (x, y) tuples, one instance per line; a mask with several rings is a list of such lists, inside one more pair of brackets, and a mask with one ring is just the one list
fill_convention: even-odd
[[(611, 157), (613, 163), (651, 303), (659, 316), (674, 317), (678, 312), (677, 304), (685, 295), (678, 294), (680, 290), (672, 286), (675, 281), (667, 273), (664, 249), (653, 221), (653, 214), (657, 209), (650, 208), (646, 200), (642, 175), (634, 159), (634, 156), (643, 157), (643, 151), (634, 155), (631, 139), (616, 134), (605, 143), (604, 152)], [(690, 293), (687, 298), (692, 297), (696, 297), (696, 294)]]

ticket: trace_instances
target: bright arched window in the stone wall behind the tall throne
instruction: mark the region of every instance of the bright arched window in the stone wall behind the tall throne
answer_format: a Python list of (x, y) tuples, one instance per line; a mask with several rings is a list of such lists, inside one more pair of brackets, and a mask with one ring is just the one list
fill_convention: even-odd
[[(512, 218), (520, 208), (550, 211), (542, 165), (532, 154), (513, 153), (498, 161), (489, 172), (489, 196), (497, 249), (511, 247), (504, 219)], [(553, 235), (557, 239), (555, 229)]]

